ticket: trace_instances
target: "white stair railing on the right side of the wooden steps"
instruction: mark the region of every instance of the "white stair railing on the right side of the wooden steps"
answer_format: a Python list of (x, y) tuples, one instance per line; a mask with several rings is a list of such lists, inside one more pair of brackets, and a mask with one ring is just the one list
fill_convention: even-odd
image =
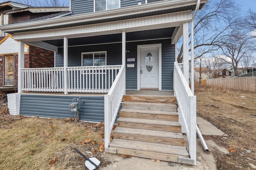
[(196, 96), (192, 94), (177, 62), (174, 62), (174, 95), (184, 121), (190, 158), (196, 165)]

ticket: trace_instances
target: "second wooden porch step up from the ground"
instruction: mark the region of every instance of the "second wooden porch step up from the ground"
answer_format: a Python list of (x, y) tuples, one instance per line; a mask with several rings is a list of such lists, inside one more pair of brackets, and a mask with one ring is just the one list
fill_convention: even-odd
[(114, 130), (114, 138), (185, 146), (182, 133), (177, 132), (116, 127)]

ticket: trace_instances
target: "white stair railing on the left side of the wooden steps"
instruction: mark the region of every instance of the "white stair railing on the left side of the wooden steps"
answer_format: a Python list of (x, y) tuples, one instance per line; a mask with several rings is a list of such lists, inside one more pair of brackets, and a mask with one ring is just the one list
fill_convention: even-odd
[(125, 95), (125, 65), (123, 65), (107, 95), (104, 96), (105, 108), (105, 148), (110, 144), (110, 133), (116, 120), (122, 97)]

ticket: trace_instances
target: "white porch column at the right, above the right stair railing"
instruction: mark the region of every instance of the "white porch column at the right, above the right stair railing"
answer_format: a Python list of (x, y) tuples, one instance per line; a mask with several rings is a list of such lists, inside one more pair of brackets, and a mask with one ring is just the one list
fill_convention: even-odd
[(188, 22), (183, 23), (183, 74), (189, 84)]

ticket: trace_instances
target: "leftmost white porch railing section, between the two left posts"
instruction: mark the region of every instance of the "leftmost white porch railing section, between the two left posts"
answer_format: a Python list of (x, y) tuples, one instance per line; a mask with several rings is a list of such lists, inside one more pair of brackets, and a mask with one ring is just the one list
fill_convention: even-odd
[(29, 68), (21, 69), (22, 91), (64, 91), (64, 68)]

